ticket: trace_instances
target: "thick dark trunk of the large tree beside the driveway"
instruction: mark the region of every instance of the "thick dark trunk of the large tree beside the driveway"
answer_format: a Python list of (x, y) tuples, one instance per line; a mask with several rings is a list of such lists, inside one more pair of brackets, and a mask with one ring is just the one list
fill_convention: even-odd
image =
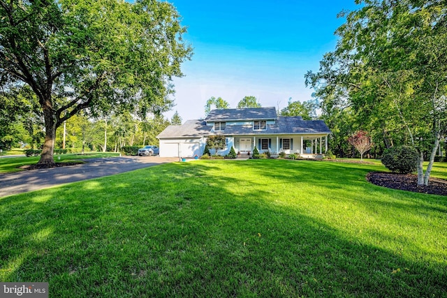
[(52, 109), (47, 107), (43, 109), (43, 117), (45, 119), (45, 142), (43, 143), (41, 159), (38, 161), (38, 167), (55, 167), (53, 153), (54, 140), (56, 139), (56, 121), (52, 114)]

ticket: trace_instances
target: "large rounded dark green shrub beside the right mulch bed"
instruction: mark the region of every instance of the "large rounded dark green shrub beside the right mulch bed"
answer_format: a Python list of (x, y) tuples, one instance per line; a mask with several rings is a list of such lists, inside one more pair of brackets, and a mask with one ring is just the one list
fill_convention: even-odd
[(382, 156), (382, 163), (392, 172), (409, 174), (418, 168), (418, 151), (414, 147), (391, 147)]

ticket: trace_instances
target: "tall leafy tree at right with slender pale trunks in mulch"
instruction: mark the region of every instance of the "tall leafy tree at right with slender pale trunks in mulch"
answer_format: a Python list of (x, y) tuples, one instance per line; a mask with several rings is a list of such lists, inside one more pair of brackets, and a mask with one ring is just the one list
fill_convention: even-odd
[[(418, 184), (428, 184), (434, 154), (446, 133), (447, 3), (367, 0), (337, 29), (307, 83), (325, 103), (346, 100), (362, 123), (420, 152)], [(318, 88), (318, 84), (324, 82)], [(425, 174), (425, 156), (429, 165)]]

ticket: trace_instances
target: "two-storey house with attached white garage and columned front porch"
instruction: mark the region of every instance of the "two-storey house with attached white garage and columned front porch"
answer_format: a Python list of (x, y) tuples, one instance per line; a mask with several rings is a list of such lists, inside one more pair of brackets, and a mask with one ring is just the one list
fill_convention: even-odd
[(247, 154), (254, 147), (260, 153), (300, 154), (312, 157), (328, 150), (328, 126), (321, 120), (302, 117), (279, 117), (274, 107), (212, 110), (203, 120), (188, 120), (181, 126), (168, 126), (157, 138), (160, 156), (201, 156), (207, 137), (223, 135), (226, 155), (233, 146), (236, 152)]

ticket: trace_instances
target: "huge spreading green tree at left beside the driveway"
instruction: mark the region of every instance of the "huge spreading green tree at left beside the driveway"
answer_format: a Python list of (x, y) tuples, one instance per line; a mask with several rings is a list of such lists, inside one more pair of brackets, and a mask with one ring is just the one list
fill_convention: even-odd
[(168, 110), (171, 79), (191, 56), (185, 31), (167, 2), (0, 0), (0, 87), (27, 84), (37, 96), (38, 164), (54, 165), (56, 128), (81, 110)]

